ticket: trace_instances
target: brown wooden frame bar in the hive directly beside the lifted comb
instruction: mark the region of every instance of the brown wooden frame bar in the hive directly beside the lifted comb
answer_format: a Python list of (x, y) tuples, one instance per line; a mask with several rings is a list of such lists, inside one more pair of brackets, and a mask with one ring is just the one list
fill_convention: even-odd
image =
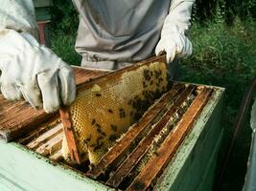
[(100, 162), (88, 171), (87, 176), (97, 179), (102, 174), (105, 174), (107, 168), (112, 166), (116, 161), (121, 159), (131, 147), (132, 142), (140, 137), (140, 135), (151, 126), (154, 119), (161, 114), (163, 110), (170, 104), (170, 99), (174, 98), (176, 95), (180, 94), (184, 90), (185, 86), (183, 84), (175, 84), (174, 88), (164, 96), (162, 96), (157, 104), (151, 107), (150, 111), (147, 112), (141, 120), (131, 128), (124, 137), (118, 141), (104, 156)]

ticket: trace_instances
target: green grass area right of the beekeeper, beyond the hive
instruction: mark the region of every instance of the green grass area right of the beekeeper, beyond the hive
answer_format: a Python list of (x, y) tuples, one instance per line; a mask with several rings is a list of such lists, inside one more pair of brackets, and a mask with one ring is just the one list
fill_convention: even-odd
[(191, 57), (182, 61), (182, 80), (226, 88), (225, 119), (232, 123), (244, 90), (256, 75), (256, 22), (193, 26)]

